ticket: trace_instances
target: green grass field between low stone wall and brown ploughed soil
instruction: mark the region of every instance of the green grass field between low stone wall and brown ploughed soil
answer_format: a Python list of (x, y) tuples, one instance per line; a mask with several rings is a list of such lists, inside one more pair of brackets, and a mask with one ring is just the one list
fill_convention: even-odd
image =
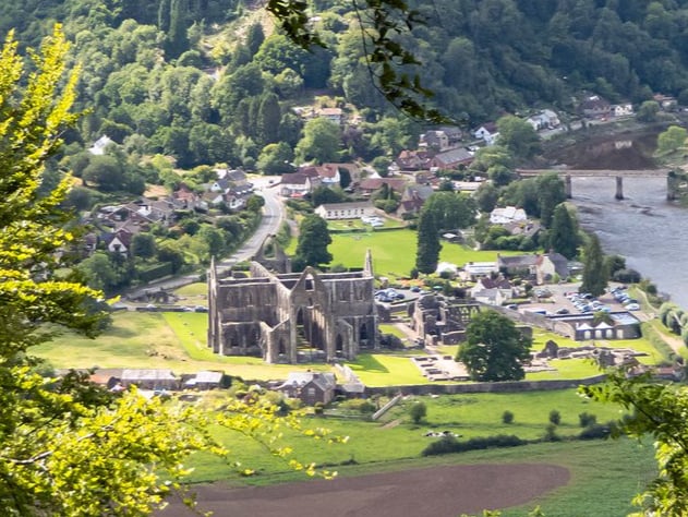
[[(551, 462), (562, 465), (571, 472), (568, 485), (524, 506), (505, 512), (505, 517), (522, 517), (536, 504), (547, 517), (607, 517), (630, 513), (631, 497), (655, 474), (653, 450), (650, 444), (629, 440), (619, 441), (563, 441), (541, 443), (509, 449), (487, 449), (440, 457), (422, 458), (421, 450), (431, 443), (424, 436), (427, 430), (451, 431), (462, 438), (495, 434), (516, 434), (533, 440), (542, 436), (548, 413), (557, 409), (562, 424), (557, 433), (563, 437), (580, 432), (578, 414), (594, 413), (599, 421), (618, 418), (614, 406), (584, 401), (575, 390), (534, 392), (527, 394), (476, 394), (447, 397), (421, 397), (427, 405), (426, 421), (420, 425), (410, 422), (407, 399), (385, 416), (382, 422), (342, 420), (337, 418), (307, 418), (304, 425), (326, 426), (335, 435), (347, 435), (346, 444), (328, 445), (306, 437), (287, 435), (298, 457), (315, 461), (321, 467), (337, 470), (339, 476), (406, 470), (448, 464), (476, 462)], [(502, 423), (502, 412), (515, 413), (512, 424)], [(232, 476), (231, 468), (205, 455), (194, 458), (195, 481), (230, 479), (232, 484), (271, 484), (302, 480), (279, 459), (262, 454), (262, 446), (230, 432), (217, 432), (224, 443), (232, 447), (232, 460), (257, 471), (253, 478)], [(342, 465), (346, 464), (346, 465)]]

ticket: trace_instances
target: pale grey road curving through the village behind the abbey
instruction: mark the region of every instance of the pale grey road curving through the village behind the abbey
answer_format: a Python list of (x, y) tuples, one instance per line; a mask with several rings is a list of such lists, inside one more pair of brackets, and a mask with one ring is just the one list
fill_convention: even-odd
[[(273, 236), (279, 231), (285, 219), (285, 206), (278, 194), (279, 177), (278, 176), (264, 176), (253, 180), (255, 193), (263, 196), (265, 205), (263, 206), (263, 219), (261, 225), (256, 229), (253, 237), (251, 237), (243, 245), (231, 256), (222, 258), (217, 262), (217, 269), (219, 273), (229, 269), (237, 262), (251, 260), (253, 255), (258, 251), (261, 244), (265, 241), (265, 238)], [(190, 274), (183, 276), (177, 276), (173, 278), (165, 278), (161, 280), (153, 281), (144, 287), (131, 290), (126, 293), (126, 298), (135, 300), (146, 292), (178, 289), (182, 286), (193, 284), (201, 279), (201, 274)]]

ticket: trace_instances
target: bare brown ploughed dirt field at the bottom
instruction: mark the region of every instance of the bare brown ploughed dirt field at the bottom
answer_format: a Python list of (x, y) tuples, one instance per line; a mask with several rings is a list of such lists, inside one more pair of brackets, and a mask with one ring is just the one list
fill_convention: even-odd
[[(198, 508), (216, 517), (457, 517), (521, 505), (568, 481), (556, 465), (472, 465), (248, 489), (204, 485), (196, 494)], [(194, 514), (171, 502), (156, 515)]]

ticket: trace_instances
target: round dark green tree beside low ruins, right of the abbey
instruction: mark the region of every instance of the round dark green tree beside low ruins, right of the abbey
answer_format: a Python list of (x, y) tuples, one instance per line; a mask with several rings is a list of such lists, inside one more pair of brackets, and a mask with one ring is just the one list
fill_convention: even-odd
[(520, 381), (523, 362), (530, 359), (532, 339), (507, 316), (481, 311), (466, 328), (466, 342), (457, 360), (466, 364), (474, 381)]

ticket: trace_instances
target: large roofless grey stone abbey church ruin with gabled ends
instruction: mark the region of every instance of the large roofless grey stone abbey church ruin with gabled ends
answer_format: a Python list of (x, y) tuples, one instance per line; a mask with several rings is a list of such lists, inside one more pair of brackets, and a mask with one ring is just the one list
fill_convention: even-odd
[(208, 274), (208, 347), (269, 363), (354, 359), (374, 349), (377, 311), (370, 251), (363, 270), (273, 273), (252, 262), (248, 278)]

